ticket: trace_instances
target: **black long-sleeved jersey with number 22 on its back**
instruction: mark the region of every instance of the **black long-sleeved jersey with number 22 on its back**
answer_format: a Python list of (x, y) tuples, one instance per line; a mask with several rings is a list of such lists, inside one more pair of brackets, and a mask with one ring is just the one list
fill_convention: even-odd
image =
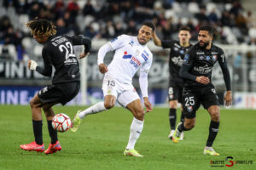
[(74, 45), (84, 45), (85, 52), (90, 50), (90, 40), (84, 37), (49, 37), (44, 43), (42, 56), (44, 68), (37, 66), (36, 71), (51, 77), (52, 65), (55, 67), (53, 84), (80, 81), (79, 62), (73, 50)]

